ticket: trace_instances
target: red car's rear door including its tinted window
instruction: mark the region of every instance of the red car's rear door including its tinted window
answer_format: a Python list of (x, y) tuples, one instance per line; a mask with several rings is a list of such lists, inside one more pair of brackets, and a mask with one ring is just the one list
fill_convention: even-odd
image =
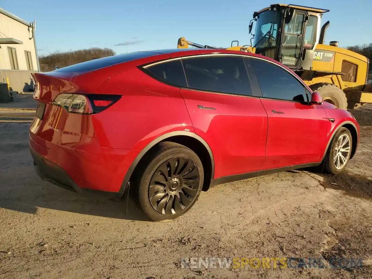
[(253, 96), (243, 56), (183, 58), (187, 88), (182, 87), (196, 134), (208, 142), (215, 179), (259, 170), (264, 159), (267, 115)]

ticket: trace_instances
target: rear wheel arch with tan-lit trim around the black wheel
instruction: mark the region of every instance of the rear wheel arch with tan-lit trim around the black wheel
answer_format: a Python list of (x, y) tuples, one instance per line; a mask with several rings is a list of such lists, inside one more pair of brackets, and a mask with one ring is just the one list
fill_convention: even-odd
[(209, 189), (211, 180), (214, 178), (214, 157), (211, 148), (202, 137), (196, 135), (193, 132), (173, 131), (155, 138), (155, 140), (151, 141), (144, 149), (142, 149), (140, 154), (137, 155), (128, 171), (126, 172), (120, 188), (120, 192), (125, 192), (128, 183), (131, 181), (132, 175), (135, 174), (136, 171), (138, 171), (142, 164), (146, 161), (146, 155), (150, 153), (150, 151), (152, 150), (152, 148), (155, 147), (156, 144), (163, 141), (171, 141), (185, 145), (199, 156), (205, 172), (204, 177), (210, 177), (210, 179), (204, 180), (202, 190), (206, 191)]

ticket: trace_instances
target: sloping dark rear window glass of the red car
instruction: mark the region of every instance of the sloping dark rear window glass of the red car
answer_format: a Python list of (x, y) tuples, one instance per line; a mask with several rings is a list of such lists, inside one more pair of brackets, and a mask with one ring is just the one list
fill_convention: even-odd
[(131, 52), (126, 54), (119, 54), (119, 55), (113, 55), (103, 58), (98, 58), (94, 60), (89, 60), (86, 62), (81, 62), (78, 64), (74, 64), (71, 66), (67, 66), (64, 68), (60, 68), (58, 70), (54, 70), (55, 72), (62, 72), (62, 73), (80, 73), (80, 72), (89, 72), (98, 70), (100, 68), (112, 66), (115, 64), (150, 57), (157, 55), (159, 53), (157, 52)]

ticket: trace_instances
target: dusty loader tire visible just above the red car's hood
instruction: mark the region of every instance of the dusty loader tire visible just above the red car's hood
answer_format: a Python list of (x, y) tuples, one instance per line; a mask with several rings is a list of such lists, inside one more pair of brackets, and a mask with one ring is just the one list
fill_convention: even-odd
[(347, 109), (345, 93), (336, 85), (331, 83), (315, 83), (310, 86), (312, 91), (317, 91), (324, 102), (331, 103), (339, 109)]

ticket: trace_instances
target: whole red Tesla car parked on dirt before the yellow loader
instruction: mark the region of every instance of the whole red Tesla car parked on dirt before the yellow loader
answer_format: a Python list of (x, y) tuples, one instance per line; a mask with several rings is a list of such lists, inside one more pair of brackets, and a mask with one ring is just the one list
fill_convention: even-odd
[(269, 58), (239, 51), (132, 52), (34, 73), (37, 173), (174, 219), (219, 183), (322, 165), (337, 174), (359, 125)]

